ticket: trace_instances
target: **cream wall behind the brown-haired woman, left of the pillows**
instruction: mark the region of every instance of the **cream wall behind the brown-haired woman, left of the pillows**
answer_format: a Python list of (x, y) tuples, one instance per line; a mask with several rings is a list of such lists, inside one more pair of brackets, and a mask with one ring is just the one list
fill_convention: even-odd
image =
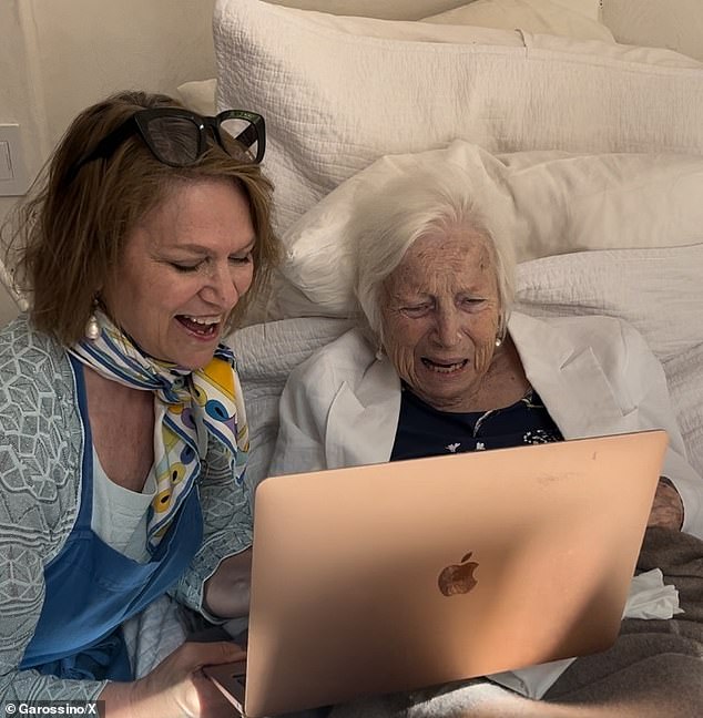
[[(0, 123), (33, 177), (71, 119), (124, 89), (173, 94), (215, 74), (214, 0), (0, 0)], [(16, 198), (0, 197), (0, 222)], [(0, 326), (17, 309), (0, 287)]]

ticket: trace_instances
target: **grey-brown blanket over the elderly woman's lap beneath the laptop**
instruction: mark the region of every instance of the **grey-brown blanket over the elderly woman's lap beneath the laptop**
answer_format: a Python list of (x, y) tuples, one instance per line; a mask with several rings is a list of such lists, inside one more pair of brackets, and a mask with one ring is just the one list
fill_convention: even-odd
[(334, 718), (695, 718), (703, 716), (703, 542), (650, 529), (639, 571), (661, 568), (679, 589), (683, 614), (626, 619), (614, 646), (575, 660), (542, 701), (486, 679), (336, 707)]

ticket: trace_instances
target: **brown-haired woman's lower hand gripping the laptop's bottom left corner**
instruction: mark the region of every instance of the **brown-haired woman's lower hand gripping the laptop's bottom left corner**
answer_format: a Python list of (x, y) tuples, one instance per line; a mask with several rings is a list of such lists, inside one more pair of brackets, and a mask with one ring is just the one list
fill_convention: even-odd
[(130, 684), (109, 684), (99, 699), (111, 718), (227, 718), (236, 716), (203, 666), (242, 660), (246, 656), (228, 642), (185, 643), (150, 674)]

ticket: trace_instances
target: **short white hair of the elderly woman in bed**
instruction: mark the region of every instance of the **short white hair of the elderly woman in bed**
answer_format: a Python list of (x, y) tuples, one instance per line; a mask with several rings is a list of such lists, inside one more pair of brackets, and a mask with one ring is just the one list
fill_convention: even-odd
[(437, 229), (466, 227), (487, 239), (498, 284), (499, 336), (507, 330), (514, 296), (516, 259), (506, 227), (507, 199), (496, 186), (472, 182), (454, 163), (418, 167), (388, 183), (361, 208), (355, 228), (355, 295), (371, 339), (383, 341), (383, 284), (412, 244)]

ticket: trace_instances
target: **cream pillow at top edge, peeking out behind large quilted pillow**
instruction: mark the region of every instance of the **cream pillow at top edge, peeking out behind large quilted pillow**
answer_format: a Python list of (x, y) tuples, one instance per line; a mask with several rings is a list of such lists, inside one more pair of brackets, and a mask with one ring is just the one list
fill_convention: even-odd
[(574, 12), (553, 0), (476, 0), (469, 4), (422, 18), (422, 22), (469, 24), (485, 28), (567, 35), (577, 40), (614, 42), (612, 32), (597, 19)]

